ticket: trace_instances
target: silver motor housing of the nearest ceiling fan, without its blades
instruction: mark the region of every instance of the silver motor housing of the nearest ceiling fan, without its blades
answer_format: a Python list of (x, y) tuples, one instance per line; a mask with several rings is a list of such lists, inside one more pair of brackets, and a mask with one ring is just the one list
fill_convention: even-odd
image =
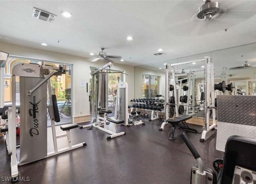
[(206, 1), (205, 4), (198, 8), (197, 18), (210, 20), (214, 15), (220, 12), (220, 3), (219, 2), (210, 2)]

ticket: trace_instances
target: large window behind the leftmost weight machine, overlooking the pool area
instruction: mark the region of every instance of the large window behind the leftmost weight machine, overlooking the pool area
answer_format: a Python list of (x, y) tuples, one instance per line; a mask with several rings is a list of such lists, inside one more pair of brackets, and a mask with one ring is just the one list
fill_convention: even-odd
[[(11, 74), (12, 68), (19, 63), (33, 63), (33, 64), (45, 64), (50, 66), (58, 66), (59, 63), (43, 62), (36, 60), (25, 60), (19, 58), (8, 58), (6, 66), (4, 68), (4, 105), (11, 105)], [(72, 103), (71, 103), (71, 83), (72, 83), (72, 65), (68, 65), (68, 72), (62, 76), (52, 76), (50, 78), (52, 94), (56, 94), (58, 109), (60, 114), (60, 122), (56, 124), (64, 124), (72, 122)], [(16, 78), (16, 104), (20, 104), (20, 82), (19, 78)], [(50, 117), (48, 116), (47, 125), (51, 125)]]

